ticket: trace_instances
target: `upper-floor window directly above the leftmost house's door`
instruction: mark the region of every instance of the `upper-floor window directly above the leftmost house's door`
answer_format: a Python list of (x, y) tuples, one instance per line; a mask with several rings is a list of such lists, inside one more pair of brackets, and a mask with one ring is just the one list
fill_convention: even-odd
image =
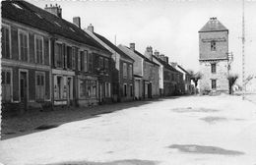
[(29, 33), (19, 30), (19, 55), (20, 60), (29, 61)]

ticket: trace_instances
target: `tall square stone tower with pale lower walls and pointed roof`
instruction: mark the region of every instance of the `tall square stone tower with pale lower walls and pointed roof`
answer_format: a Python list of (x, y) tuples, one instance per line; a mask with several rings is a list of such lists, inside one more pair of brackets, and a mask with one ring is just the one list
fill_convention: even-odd
[(199, 30), (200, 93), (228, 91), (228, 29), (211, 18)]

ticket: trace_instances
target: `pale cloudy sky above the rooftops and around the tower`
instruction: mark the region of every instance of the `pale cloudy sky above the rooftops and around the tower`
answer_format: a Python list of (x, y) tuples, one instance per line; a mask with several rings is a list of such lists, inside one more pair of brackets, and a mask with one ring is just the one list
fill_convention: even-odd
[[(95, 31), (116, 44), (134, 42), (144, 54), (147, 46), (169, 57), (185, 69), (199, 71), (198, 30), (210, 18), (229, 30), (229, 52), (234, 60), (231, 73), (242, 72), (241, 0), (44, 0), (30, 1), (44, 8), (58, 4), (62, 18), (81, 17), (81, 27)], [(245, 0), (245, 72), (256, 76), (256, 0)]]

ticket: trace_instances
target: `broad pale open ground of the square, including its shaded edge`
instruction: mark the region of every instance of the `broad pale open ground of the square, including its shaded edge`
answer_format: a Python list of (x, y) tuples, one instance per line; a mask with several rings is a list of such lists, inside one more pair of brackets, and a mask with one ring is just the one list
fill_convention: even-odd
[(7, 125), (19, 119), (4, 121), (0, 162), (256, 165), (256, 104), (241, 96), (170, 97), (45, 114), (51, 119), (41, 115), (43, 126), (27, 122), (11, 135)]

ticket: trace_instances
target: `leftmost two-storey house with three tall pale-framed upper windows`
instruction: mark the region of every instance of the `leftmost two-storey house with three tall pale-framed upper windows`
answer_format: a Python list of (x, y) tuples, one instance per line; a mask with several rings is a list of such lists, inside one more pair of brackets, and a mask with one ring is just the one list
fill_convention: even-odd
[(21, 113), (52, 98), (49, 23), (27, 4), (2, 2), (2, 102), (4, 110)]

